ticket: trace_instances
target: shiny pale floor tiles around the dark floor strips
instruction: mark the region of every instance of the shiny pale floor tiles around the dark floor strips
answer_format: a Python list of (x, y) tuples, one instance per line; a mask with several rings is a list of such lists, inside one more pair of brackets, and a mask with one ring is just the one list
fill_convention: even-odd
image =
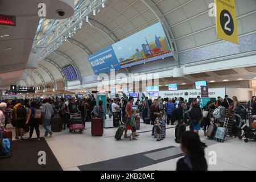
[[(77, 167), (86, 164), (122, 158), (159, 148), (179, 147), (179, 144), (174, 142), (175, 129), (167, 129), (166, 139), (156, 142), (151, 136), (151, 132), (140, 133), (137, 141), (127, 139), (116, 141), (114, 134), (117, 129), (104, 129), (103, 137), (92, 137), (90, 134), (90, 123), (86, 123), (86, 128), (87, 130), (83, 134), (71, 134), (69, 130), (65, 130), (60, 133), (54, 133), (52, 138), (46, 139), (64, 170), (79, 170)], [(152, 130), (151, 125), (141, 123), (141, 130), (138, 132), (150, 130)], [(42, 126), (40, 131), (40, 136), (43, 137), (44, 129)], [(14, 133), (13, 135), (15, 137)], [(28, 134), (24, 138), (27, 138), (27, 136)], [(200, 137), (202, 140), (205, 140), (203, 131), (200, 131)], [(229, 139), (225, 143), (217, 143), (210, 140), (205, 140), (205, 142), (209, 143), (208, 148), (205, 150), (207, 160), (209, 159), (209, 151), (216, 151), (217, 154), (217, 164), (208, 165), (209, 170), (256, 170), (256, 144), (254, 141), (244, 143), (242, 140), (234, 138)], [(137, 170), (175, 170), (176, 162), (179, 158), (166, 159), (166, 161)]]

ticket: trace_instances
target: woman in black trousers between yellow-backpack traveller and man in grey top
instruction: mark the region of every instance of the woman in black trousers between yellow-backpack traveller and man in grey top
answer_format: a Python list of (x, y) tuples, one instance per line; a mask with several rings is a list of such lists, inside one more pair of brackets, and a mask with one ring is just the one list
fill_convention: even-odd
[(40, 141), (40, 131), (39, 131), (39, 118), (35, 118), (35, 111), (38, 109), (38, 105), (36, 105), (36, 102), (33, 101), (31, 103), (31, 107), (28, 110), (28, 116), (27, 116), (27, 121), (26, 125), (29, 123), (30, 124), (30, 137), (28, 137), (28, 140), (31, 140), (32, 134), (34, 132), (34, 129), (36, 131), (36, 136), (38, 137), (37, 140)]

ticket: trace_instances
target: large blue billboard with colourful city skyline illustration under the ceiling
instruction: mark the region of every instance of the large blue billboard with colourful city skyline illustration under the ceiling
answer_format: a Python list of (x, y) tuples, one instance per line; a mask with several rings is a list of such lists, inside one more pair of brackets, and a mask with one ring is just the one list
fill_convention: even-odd
[(110, 72), (110, 69), (127, 68), (171, 56), (162, 24), (156, 23), (90, 55), (88, 59), (94, 73), (99, 75)]

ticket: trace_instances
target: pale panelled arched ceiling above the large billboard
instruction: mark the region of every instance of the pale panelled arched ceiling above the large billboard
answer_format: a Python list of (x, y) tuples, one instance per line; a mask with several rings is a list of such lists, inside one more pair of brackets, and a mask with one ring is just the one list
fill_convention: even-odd
[[(152, 2), (155, 7), (150, 8), (145, 2)], [(86, 50), (72, 42), (65, 42), (59, 51), (71, 57), (82, 77), (93, 75), (88, 63), (88, 52), (94, 53), (161, 21), (156, 16), (156, 8), (170, 26), (168, 28), (173, 34), (172, 42), (176, 42), (178, 53), (207, 46), (219, 41), (216, 39), (215, 18), (209, 16), (209, 3), (213, 2), (214, 0), (106, 0), (104, 9), (96, 16), (89, 16), (92, 26), (84, 22), (84, 27), (72, 37)], [(236, 0), (236, 10), (238, 35), (255, 32), (256, 1)], [(67, 59), (56, 53), (51, 53), (48, 58), (60, 67), (69, 64)], [(57, 71), (53, 69), (49, 70), (55, 75)], [(40, 80), (36, 78), (36, 81)]]

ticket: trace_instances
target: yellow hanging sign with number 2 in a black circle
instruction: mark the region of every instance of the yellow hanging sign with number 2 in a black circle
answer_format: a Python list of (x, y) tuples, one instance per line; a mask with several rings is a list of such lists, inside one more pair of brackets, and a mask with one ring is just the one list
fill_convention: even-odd
[(215, 0), (217, 38), (238, 44), (235, 0)]

